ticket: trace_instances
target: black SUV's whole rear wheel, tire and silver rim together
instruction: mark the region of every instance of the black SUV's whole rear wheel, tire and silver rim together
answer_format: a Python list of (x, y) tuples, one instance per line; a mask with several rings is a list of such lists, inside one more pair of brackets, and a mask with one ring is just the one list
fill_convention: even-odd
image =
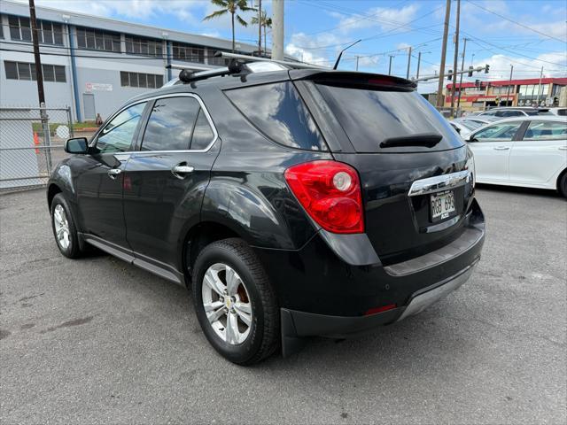
[(242, 239), (214, 242), (200, 252), (192, 293), (203, 333), (225, 359), (252, 365), (278, 348), (276, 295), (259, 259)]

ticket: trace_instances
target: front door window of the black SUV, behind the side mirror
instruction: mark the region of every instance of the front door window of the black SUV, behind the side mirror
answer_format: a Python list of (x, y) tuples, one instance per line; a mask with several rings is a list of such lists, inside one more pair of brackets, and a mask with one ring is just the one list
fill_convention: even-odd
[(130, 106), (106, 124), (97, 138), (97, 149), (100, 153), (125, 152), (131, 149), (145, 104), (146, 102)]

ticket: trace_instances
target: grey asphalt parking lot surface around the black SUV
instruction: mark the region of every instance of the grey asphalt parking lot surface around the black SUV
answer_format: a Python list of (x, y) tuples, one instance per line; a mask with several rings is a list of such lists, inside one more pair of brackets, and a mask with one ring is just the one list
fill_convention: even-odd
[(470, 282), (361, 339), (221, 359), (181, 287), (62, 257), (43, 190), (0, 197), (0, 422), (566, 423), (567, 202), (483, 187)]

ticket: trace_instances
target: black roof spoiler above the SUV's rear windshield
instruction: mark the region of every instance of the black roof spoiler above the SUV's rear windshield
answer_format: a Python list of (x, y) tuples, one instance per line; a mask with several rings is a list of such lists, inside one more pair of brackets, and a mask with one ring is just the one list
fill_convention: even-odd
[(291, 80), (317, 81), (322, 84), (354, 87), (383, 87), (390, 89), (415, 90), (415, 81), (383, 75), (381, 73), (353, 73), (346, 71), (321, 71), (315, 69), (291, 69)]

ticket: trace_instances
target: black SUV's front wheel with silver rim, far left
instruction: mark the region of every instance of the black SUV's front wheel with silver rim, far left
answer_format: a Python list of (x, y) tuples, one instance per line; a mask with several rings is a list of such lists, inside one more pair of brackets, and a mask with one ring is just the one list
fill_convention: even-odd
[(73, 215), (61, 193), (58, 193), (51, 201), (51, 229), (59, 251), (66, 258), (77, 259), (81, 257), (82, 251), (79, 246), (79, 236)]

